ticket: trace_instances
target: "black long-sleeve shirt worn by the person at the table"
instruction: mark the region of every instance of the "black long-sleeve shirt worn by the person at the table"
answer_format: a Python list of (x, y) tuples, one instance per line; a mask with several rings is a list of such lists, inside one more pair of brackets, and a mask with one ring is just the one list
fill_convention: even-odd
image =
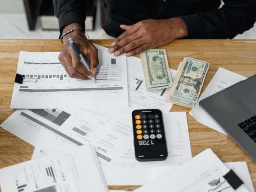
[[(60, 31), (69, 23), (84, 29), (86, 0), (53, 0)], [(107, 11), (103, 29), (118, 37), (120, 24), (134, 24), (145, 19), (180, 17), (188, 30), (186, 38), (233, 38), (253, 27), (256, 0), (102, 0)], [(160, 29), (161, 30), (161, 29)]]

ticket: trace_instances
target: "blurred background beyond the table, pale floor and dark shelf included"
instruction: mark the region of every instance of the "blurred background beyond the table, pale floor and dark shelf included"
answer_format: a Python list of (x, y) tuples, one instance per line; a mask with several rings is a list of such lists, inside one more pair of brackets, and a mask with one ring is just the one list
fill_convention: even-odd
[[(89, 0), (86, 32), (98, 39), (105, 12), (100, 0)], [(58, 20), (52, 0), (0, 0), (0, 39), (58, 39)], [(254, 27), (235, 39), (256, 39)]]

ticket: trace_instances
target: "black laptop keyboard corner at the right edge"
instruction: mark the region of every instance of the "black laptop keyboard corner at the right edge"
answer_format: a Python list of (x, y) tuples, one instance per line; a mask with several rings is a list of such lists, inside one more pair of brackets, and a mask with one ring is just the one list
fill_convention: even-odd
[(256, 143), (256, 116), (246, 119), (238, 126)]

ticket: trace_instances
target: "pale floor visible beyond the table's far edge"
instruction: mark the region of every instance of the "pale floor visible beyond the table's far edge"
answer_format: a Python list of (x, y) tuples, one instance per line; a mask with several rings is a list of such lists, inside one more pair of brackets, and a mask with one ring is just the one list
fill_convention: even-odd
[[(29, 31), (25, 14), (0, 14), (0, 39), (58, 39), (58, 31), (41, 29), (38, 19), (35, 31)], [(95, 30), (88, 31), (90, 39), (98, 39), (101, 29), (100, 12), (97, 10)], [(256, 24), (254, 27), (234, 39), (256, 39)]]

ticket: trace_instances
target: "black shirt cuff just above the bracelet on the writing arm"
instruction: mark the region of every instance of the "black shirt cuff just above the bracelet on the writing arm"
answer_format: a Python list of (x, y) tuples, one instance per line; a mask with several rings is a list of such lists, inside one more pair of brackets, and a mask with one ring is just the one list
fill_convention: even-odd
[(61, 34), (63, 33), (63, 27), (70, 23), (78, 23), (82, 26), (83, 31), (85, 31), (85, 19), (86, 16), (77, 11), (70, 11), (64, 13), (63, 15), (60, 15), (60, 17), (58, 18), (58, 23)]

